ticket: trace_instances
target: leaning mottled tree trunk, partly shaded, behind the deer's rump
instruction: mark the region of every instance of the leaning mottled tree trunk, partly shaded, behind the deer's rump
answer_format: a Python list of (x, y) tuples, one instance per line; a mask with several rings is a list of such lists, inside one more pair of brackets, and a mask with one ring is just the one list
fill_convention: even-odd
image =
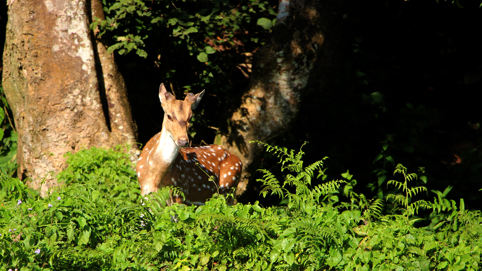
[[(248, 89), (228, 108), (227, 131), (216, 136), (222, 145), (243, 162), (236, 194), (247, 189), (258, 168), (255, 159), (261, 146), (288, 131), (295, 121), (308, 78), (323, 52), (324, 32), (342, 1), (281, 0), (271, 38), (254, 55)], [(338, 15), (341, 19), (341, 14)]]

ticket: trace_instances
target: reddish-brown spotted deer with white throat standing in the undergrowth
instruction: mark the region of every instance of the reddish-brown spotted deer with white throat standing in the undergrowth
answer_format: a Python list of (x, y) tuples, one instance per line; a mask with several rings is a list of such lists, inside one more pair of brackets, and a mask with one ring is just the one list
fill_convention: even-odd
[[(237, 156), (218, 145), (187, 147), (192, 110), (199, 105), (202, 95), (204, 91), (196, 95), (188, 93), (184, 100), (176, 100), (161, 84), (162, 129), (147, 142), (135, 166), (142, 195), (174, 186), (183, 190), (185, 198), (171, 195), (168, 205), (203, 205), (213, 193), (226, 195), (237, 186), (242, 167)], [(214, 182), (209, 176), (214, 176)], [(229, 203), (232, 204), (232, 199)]]

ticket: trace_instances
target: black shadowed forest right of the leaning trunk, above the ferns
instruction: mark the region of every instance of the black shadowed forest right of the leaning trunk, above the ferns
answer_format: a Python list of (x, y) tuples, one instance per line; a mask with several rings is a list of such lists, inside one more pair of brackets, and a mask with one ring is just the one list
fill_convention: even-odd
[[(427, 183), (412, 183), (428, 188), (427, 199), (436, 196), (430, 190), (450, 185), (447, 198), (480, 208), (479, 4), (460, 9), (442, 1), (353, 2), (344, 14), (350, 44), (343, 69), (320, 88), (325, 67), (319, 67), (299, 121), (274, 144), (298, 149), (309, 141), (306, 163), (328, 156), (328, 180), (349, 169), (358, 180), (354, 190), (368, 198), (387, 195), (387, 180), (401, 180), (393, 176), (394, 165), (402, 163), (427, 177)], [(373, 163), (378, 154), (384, 158)], [(263, 166), (279, 167), (273, 162), (267, 157)], [(387, 178), (379, 183), (383, 170)], [(252, 195), (259, 189), (254, 185)]]

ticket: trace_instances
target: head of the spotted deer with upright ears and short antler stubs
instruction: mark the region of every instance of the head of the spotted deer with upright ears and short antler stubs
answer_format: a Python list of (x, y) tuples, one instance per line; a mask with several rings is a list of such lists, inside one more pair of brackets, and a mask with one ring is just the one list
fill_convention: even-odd
[(167, 92), (164, 84), (159, 87), (159, 99), (164, 110), (163, 126), (168, 136), (180, 148), (189, 145), (187, 132), (192, 118), (192, 110), (198, 107), (202, 95), (204, 95), (204, 91), (196, 95), (188, 93), (184, 100), (176, 100), (174, 95)]

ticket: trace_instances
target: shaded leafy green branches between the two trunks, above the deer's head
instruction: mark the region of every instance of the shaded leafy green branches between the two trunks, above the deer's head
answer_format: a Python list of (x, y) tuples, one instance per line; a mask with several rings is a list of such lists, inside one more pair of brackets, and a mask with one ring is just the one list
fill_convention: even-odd
[[(228, 70), (246, 65), (243, 54), (264, 44), (258, 40), (271, 31), (273, 7), (263, 0), (104, 0), (106, 20), (94, 18), (91, 28), (113, 41), (107, 52), (152, 54), (163, 81), (174, 83), (177, 91), (210, 87), (215, 94), (232, 89)], [(228, 64), (226, 57), (234, 62)], [(186, 72), (194, 78), (186, 81)]]

